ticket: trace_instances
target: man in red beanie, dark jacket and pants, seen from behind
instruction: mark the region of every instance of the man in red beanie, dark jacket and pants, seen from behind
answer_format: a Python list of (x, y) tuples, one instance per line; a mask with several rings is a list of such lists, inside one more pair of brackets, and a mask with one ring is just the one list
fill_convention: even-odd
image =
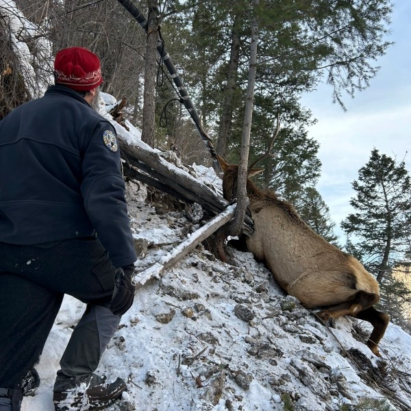
[(64, 294), (87, 304), (60, 361), (56, 411), (127, 389), (93, 374), (132, 305), (136, 253), (116, 132), (91, 104), (97, 55), (59, 51), (55, 86), (0, 121), (0, 411), (21, 408)]

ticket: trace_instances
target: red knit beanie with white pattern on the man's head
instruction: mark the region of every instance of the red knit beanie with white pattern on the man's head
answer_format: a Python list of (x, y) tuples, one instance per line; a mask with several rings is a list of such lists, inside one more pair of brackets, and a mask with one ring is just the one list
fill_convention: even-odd
[(100, 60), (90, 50), (69, 47), (55, 56), (56, 82), (73, 90), (92, 90), (103, 82)]

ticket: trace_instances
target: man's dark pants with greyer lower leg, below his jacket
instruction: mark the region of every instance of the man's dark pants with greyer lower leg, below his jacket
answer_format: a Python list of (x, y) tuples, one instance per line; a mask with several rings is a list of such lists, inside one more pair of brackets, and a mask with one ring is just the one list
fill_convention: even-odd
[(56, 390), (97, 368), (120, 317), (107, 308), (116, 268), (95, 238), (46, 245), (0, 242), (0, 388), (19, 388), (38, 361), (63, 295), (87, 303), (60, 362)]

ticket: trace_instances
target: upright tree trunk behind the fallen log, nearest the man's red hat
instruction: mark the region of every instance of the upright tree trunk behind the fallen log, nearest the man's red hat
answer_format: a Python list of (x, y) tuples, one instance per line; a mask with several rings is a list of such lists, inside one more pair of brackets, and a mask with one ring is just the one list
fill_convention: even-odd
[(155, 125), (155, 65), (159, 24), (158, 0), (149, 0), (147, 49), (145, 53), (144, 103), (142, 106), (141, 139), (154, 147)]

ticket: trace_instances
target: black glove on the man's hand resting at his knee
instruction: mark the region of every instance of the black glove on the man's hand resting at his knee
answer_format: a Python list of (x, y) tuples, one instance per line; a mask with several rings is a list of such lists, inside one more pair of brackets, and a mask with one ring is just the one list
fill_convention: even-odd
[(117, 269), (114, 277), (114, 292), (110, 301), (110, 310), (113, 314), (122, 316), (132, 306), (135, 288), (132, 284), (134, 264)]

